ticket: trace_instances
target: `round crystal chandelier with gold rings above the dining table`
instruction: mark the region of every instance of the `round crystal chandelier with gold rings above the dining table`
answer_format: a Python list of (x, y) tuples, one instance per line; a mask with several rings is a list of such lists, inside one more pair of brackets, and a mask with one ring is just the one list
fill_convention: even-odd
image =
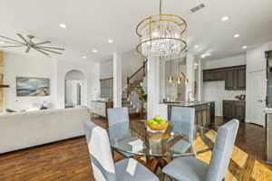
[(136, 28), (141, 43), (136, 50), (143, 56), (167, 57), (186, 49), (187, 23), (178, 15), (160, 14), (141, 21)]

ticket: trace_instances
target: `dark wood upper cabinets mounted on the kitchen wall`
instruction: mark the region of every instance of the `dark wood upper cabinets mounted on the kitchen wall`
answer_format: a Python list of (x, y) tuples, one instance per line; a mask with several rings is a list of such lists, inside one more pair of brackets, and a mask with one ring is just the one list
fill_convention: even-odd
[(225, 90), (246, 90), (246, 65), (204, 70), (203, 81), (225, 81)]

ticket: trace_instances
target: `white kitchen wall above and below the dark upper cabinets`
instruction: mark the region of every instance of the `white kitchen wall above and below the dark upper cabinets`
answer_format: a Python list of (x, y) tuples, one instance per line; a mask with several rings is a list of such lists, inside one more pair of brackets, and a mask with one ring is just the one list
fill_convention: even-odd
[[(225, 59), (201, 62), (203, 70), (245, 65), (246, 55), (242, 54), (239, 56), (228, 57)], [(201, 71), (201, 73), (203, 73), (203, 71)], [(236, 95), (247, 93), (246, 90), (225, 90), (225, 81), (204, 82), (201, 86), (202, 86), (201, 90), (203, 90), (204, 93), (204, 100), (216, 101), (215, 102), (216, 116), (222, 116), (223, 114), (222, 100), (235, 100), (234, 97)]]

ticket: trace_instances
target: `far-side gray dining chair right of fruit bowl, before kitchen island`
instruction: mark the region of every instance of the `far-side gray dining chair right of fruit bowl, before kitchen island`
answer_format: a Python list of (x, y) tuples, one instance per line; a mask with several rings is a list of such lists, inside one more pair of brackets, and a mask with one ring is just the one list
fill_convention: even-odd
[(170, 120), (180, 122), (175, 125), (173, 131), (188, 134), (188, 141), (185, 138), (180, 139), (175, 145), (170, 148), (170, 151), (177, 153), (185, 153), (193, 141), (193, 131), (195, 122), (195, 109), (184, 107), (172, 107)]

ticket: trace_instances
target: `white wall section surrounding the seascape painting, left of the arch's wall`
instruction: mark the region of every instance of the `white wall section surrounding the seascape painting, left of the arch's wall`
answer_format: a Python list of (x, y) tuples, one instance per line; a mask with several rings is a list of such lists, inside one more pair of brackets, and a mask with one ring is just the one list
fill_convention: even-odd
[[(33, 58), (27, 55), (4, 53), (4, 82), (10, 88), (4, 89), (4, 108), (12, 110), (30, 110), (41, 104), (42, 100), (56, 107), (55, 60)], [(16, 97), (16, 77), (37, 77), (50, 79), (50, 95), (39, 97)]]

